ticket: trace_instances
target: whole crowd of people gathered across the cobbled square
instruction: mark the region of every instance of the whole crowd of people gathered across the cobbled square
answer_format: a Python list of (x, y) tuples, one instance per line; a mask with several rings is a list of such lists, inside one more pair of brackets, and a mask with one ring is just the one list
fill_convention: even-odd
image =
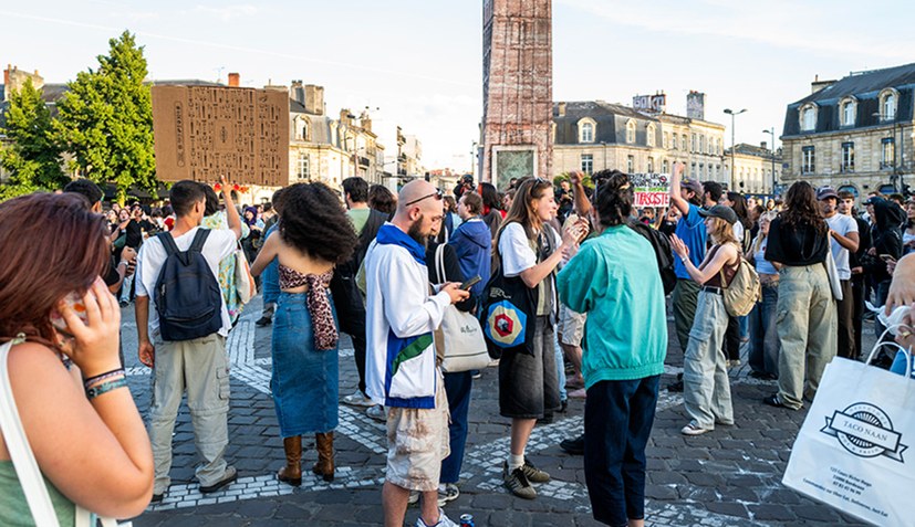
[[(675, 164), (666, 210), (634, 207), (630, 177), (615, 170), (594, 173), (593, 189), (573, 172), (558, 185), (511, 180), (502, 191), (467, 177), (449, 194), (424, 180), (395, 194), (347, 178), (342, 196), (295, 183), (257, 207), (237, 207), (226, 180), (221, 202), (212, 187), (180, 181), (162, 208), (105, 212), (101, 190), (75, 180), (59, 194), (0, 204), (0, 340), (61, 523), (72, 525), (74, 504), (129, 517), (164, 499), (185, 397), (200, 492), (237, 479), (226, 459), (226, 339), (250, 278), (263, 295), (257, 325), (272, 331), (279, 481), (302, 484), (309, 434), (311, 472), (333, 481), (339, 403), (361, 407), (386, 423), (385, 525), (402, 526), (417, 502), (418, 527), (457, 525), (443, 507), (460, 494), (479, 371), (443, 371), (436, 339), (451, 306), (474, 314), (490, 341), (506, 329), (488, 326), (498, 283), (527, 315), (492, 360), (499, 413), (510, 420), (505, 487), (537, 498), (551, 476), (527, 456), (531, 433), (581, 397), (584, 434), (561, 446), (584, 455), (593, 515), (643, 526), (668, 302), (684, 372), (667, 389), (684, 392), (687, 436), (735, 423), (729, 368), (746, 360), (751, 376), (777, 383), (762, 403), (798, 410), (835, 356), (866, 351), (865, 303), (887, 313), (915, 303), (915, 202), (874, 193), (857, 210), (854, 196), (800, 181), (783, 201), (763, 203), (683, 170)], [(65, 250), (53, 236), (69, 241)], [(22, 239), (34, 243), (25, 250)], [(742, 265), (756, 270), (761, 294), (736, 316), (727, 289)], [(137, 352), (153, 368), (148, 429), (126, 386), (118, 302), (135, 304)], [(343, 396), (341, 334), (360, 379)], [(898, 335), (913, 344), (911, 329)], [(0, 523), (20, 525), (29, 505), (2, 439), (0, 488), (13, 498)]]

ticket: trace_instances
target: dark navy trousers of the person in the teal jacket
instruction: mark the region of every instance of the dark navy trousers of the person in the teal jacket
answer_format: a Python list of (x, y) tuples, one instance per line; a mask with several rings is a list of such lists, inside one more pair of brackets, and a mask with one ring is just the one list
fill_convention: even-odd
[(645, 517), (645, 445), (661, 376), (600, 381), (584, 403), (584, 478), (594, 519), (625, 526)]

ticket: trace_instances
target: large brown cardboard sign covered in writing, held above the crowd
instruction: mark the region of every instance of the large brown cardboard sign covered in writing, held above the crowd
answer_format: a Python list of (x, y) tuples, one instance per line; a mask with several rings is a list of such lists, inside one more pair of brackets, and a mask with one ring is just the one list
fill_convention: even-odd
[(153, 86), (162, 181), (289, 183), (289, 94), (228, 86)]

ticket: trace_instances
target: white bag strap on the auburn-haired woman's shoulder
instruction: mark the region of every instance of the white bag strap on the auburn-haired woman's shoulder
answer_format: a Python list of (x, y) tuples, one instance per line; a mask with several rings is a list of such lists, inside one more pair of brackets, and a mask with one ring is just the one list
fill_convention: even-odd
[(22, 430), (22, 421), (19, 419), (19, 410), (15, 408), (15, 400), (12, 396), (10, 371), (7, 365), (12, 345), (13, 342), (10, 341), (0, 346), (0, 430), (3, 431), (3, 440), (15, 467), (17, 478), (22, 485), (22, 493), (29, 503), (32, 519), (35, 520), (35, 525), (58, 527), (60, 526), (58, 515), (54, 513), (54, 506), (35, 456), (29, 446), (25, 431)]

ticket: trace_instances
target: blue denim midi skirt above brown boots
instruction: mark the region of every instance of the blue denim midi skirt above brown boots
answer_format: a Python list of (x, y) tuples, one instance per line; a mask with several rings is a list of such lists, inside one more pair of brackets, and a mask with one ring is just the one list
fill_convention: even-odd
[(337, 425), (337, 348), (314, 349), (306, 298), (306, 293), (280, 293), (273, 315), (270, 390), (282, 438), (331, 432)]

